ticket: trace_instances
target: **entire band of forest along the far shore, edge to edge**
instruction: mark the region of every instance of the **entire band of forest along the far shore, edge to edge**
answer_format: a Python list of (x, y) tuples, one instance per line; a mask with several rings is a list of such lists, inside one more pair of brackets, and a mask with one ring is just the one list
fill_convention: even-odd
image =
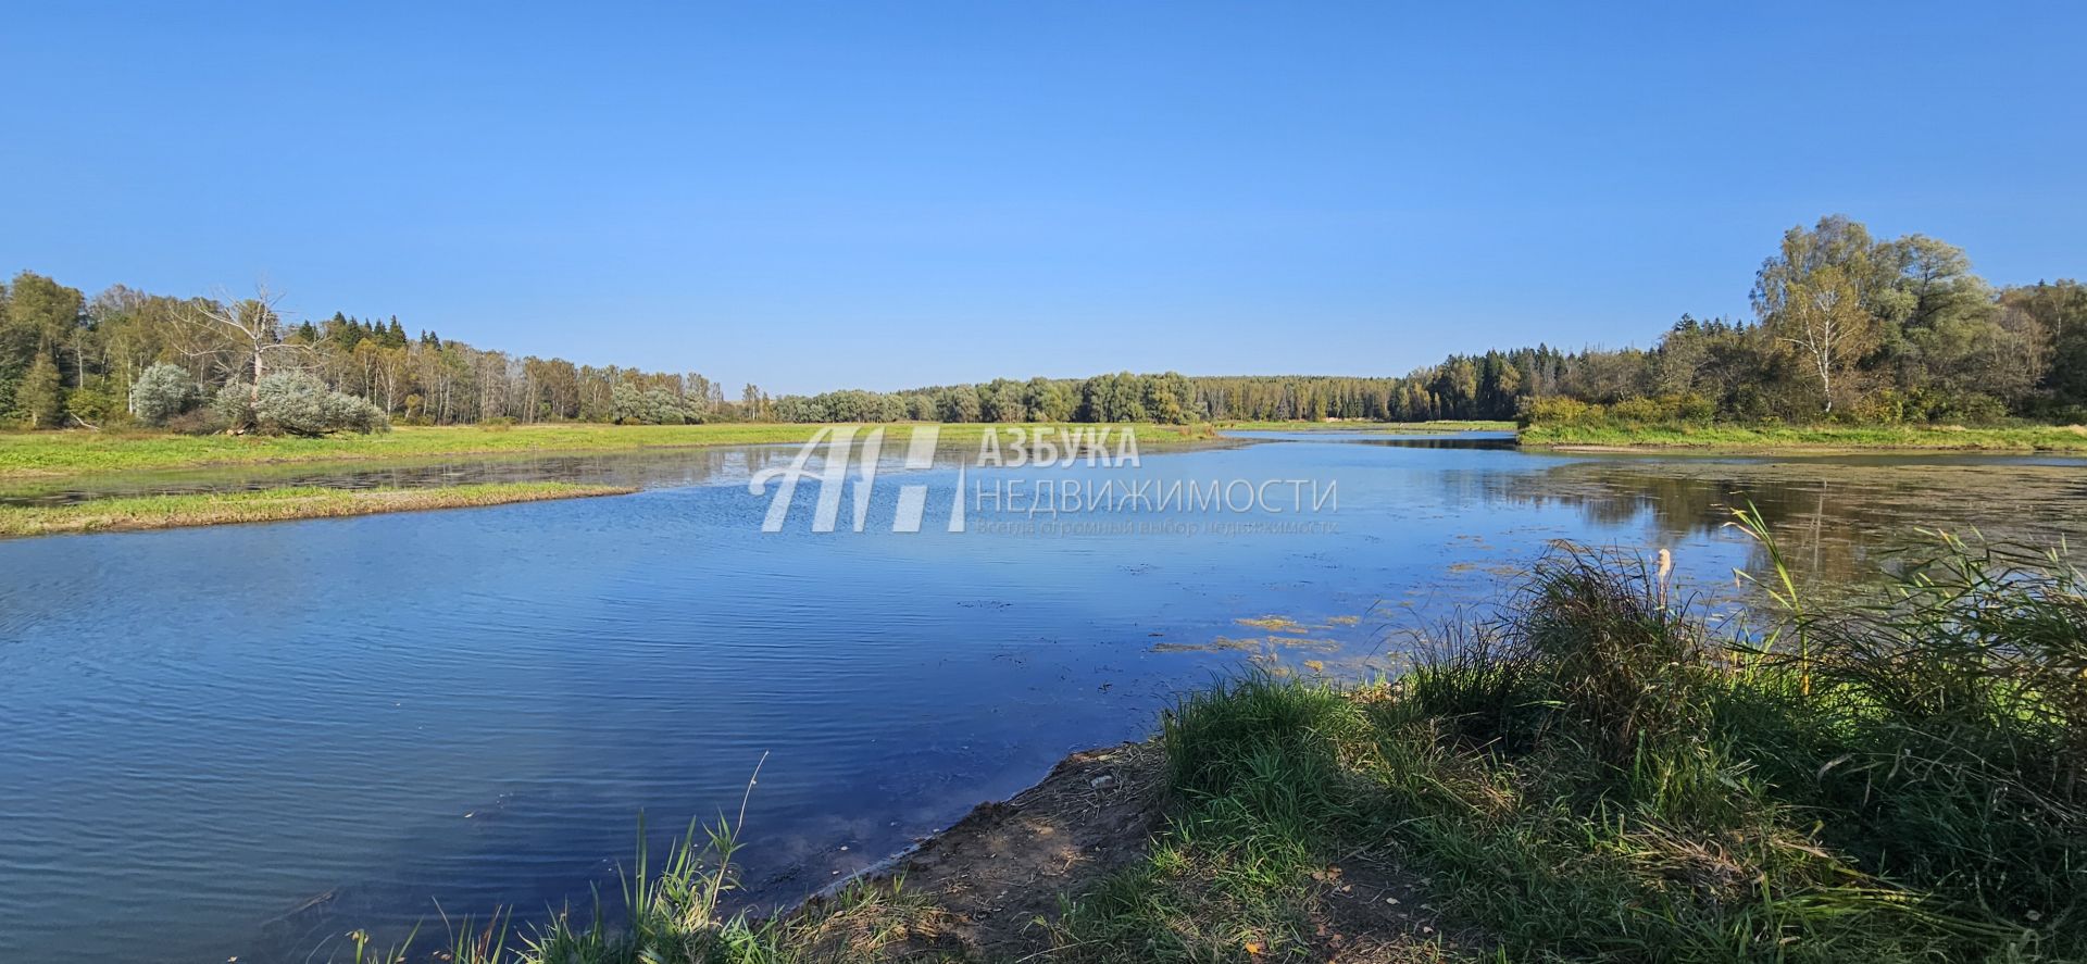
[(768, 396), (680, 371), (513, 357), (397, 319), (292, 321), (267, 292), (0, 286), (0, 419), (317, 434), (476, 421), (2087, 421), (2087, 286), (1993, 288), (1964, 250), (1826, 217), (1755, 275), (1753, 317), (1651, 348), (1453, 355), (1400, 378), (1031, 378)]

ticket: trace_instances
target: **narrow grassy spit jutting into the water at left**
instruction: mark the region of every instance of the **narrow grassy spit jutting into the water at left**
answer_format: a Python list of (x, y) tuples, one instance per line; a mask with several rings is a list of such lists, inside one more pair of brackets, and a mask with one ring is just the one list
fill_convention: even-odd
[(632, 488), (566, 482), (495, 482), (451, 488), (261, 488), (253, 492), (146, 495), (71, 505), (0, 505), (0, 536), (319, 520), (384, 511), (461, 509), (626, 495)]

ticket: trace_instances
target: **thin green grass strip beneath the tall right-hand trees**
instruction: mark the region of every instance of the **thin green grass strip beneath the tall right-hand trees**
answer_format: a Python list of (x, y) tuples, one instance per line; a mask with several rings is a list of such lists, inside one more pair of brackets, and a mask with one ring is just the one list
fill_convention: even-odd
[(1528, 426), (1526, 449), (2087, 453), (2083, 426)]

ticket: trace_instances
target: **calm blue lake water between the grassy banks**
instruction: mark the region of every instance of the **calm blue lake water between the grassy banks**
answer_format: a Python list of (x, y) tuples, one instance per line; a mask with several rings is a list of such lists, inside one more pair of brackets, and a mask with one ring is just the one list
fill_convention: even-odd
[[(653, 845), (747, 812), (747, 883), (789, 899), (1144, 734), (1246, 661), (1394, 668), (1555, 538), (1672, 549), (1728, 609), (1757, 503), (1822, 580), (1916, 526), (2087, 534), (2087, 463), (1534, 455), (1302, 434), (1137, 467), (879, 478), (864, 532), (783, 532), (747, 490), (787, 447), (397, 469), (129, 476), (13, 492), (628, 480), (618, 499), (0, 543), (0, 960), (328, 960), (342, 933), (616, 891)], [(1031, 515), (995, 482), (1332, 486), (1317, 513)], [(922, 532), (891, 532), (927, 484)], [(770, 492), (774, 488), (770, 486)], [(1092, 490), (1092, 488), (1089, 488)], [(1290, 509), (1290, 488), (1271, 495)], [(1014, 511), (1010, 511), (1014, 509)], [(1240, 522), (1304, 524), (1242, 528)], [(1056, 524), (1056, 526), (1054, 526)], [(1296, 632), (1240, 620), (1284, 618)], [(430, 941), (432, 943), (432, 941)]]

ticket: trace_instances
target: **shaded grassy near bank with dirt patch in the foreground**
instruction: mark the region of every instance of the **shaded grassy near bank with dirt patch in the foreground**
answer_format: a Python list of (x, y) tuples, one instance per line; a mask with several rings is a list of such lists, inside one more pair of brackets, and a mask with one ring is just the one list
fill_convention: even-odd
[[(695, 845), (634, 868), (628, 922), (459, 929), (445, 954), (2083, 960), (2081, 576), (1945, 540), (1882, 605), (1764, 578), (1782, 607), (1720, 638), (1647, 565), (1561, 551), (1498, 620), (1444, 630), (1396, 680), (1250, 676), (1185, 697), (1150, 745), (1150, 795), (1119, 787), (1135, 753), (1069, 762), (897, 874), (766, 922), (720, 912), (722, 833), (724, 870)], [(1140, 826), (1125, 805), (1156, 826), (1131, 853), (1014, 843), (1052, 839), (1052, 810)]]

